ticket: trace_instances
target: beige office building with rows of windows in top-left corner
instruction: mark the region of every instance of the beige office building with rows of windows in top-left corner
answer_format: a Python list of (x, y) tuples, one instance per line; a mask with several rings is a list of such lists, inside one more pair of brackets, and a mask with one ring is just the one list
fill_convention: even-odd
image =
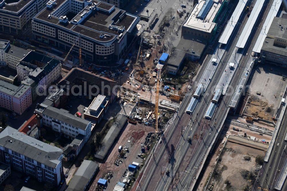
[(0, 1), (0, 30), (20, 34), (29, 27), (31, 19), (46, 6), (47, 0)]

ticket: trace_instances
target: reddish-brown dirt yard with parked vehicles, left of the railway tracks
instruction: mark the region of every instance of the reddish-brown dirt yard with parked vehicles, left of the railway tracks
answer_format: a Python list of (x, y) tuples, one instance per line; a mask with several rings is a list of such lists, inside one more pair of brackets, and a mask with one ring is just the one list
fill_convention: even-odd
[[(114, 148), (106, 161), (99, 164), (100, 171), (92, 183), (90, 191), (94, 190), (99, 178), (103, 178), (108, 172), (111, 172), (113, 177), (110, 179), (110, 182), (108, 182), (106, 190), (113, 190), (117, 182), (123, 181), (124, 177), (122, 175), (129, 164), (133, 162), (141, 164), (143, 162), (143, 159), (138, 157), (137, 154), (141, 151), (141, 143), (145, 142), (145, 138), (148, 132), (154, 132), (154, 128), (150, 126), (144, 126), (143, 124), (127, 125), (117, 143), (112, 146)], [(128, 140), (130, 140), (130, 143), (128, 143)], [(123, 147), (128, 145), (129, 152), (127, 153), (127, 158), (124, 160), (122, 159), (123, 163), (117, 166), (115, 165), (115, 160), (119, 155), (118, 148), (120, 145), (123, 145)]]

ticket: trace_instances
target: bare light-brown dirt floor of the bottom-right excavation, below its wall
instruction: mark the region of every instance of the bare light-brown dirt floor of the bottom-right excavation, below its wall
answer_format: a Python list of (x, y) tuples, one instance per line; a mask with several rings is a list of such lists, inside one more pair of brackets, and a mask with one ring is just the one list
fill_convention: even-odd
[[(218, 163), (222, 174), (220, 180), (216, 180), (213, 190), (242, 190), (246, 185), (250, 185), (250, 181), (248, 178), (243, 178), (241, 171), (254, 172), (257, 167), (255, 163), (257, 155), (265, 155), (265, 152), (228, 141), (222, 161)], [(250, 161), (245, 160), (245, 156), (251, 157)], [(229, 184), (226, 184), (227, 182)]]

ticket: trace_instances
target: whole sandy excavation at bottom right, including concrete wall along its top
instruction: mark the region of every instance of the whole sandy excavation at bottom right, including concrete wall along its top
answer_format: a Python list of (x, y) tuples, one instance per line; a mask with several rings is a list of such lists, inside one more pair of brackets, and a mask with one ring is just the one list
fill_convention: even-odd
[(215, 151), (213, 171), (200, 190), (252, 190), (268, 145), (250, 141), (236, 135), (224, 139)]

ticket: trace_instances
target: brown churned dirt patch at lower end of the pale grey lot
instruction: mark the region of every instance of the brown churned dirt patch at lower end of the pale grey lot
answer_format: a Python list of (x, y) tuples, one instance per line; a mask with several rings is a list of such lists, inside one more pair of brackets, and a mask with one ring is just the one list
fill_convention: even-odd
[(274, 105), (268, 104), (267, 101), (262, 101), (257, 96), (250, 96), (246, 104), (244, 113), (252, 115), (253, 117), (262, 118), (265, 120), (272, 121), (274, 114)]

